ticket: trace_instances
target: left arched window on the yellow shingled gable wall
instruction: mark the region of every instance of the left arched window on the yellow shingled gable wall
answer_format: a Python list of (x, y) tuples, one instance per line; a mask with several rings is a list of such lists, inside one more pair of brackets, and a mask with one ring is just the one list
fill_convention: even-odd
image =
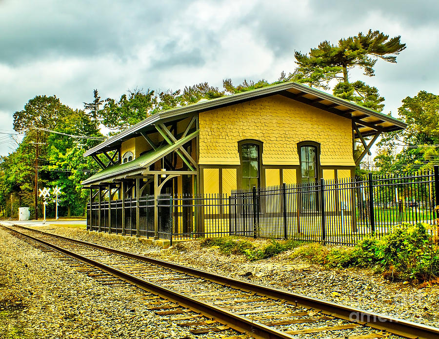
[(241, 160), (240, 177), (243, 189), (260, 186), (260, 167), (262, 142), (259, 140), (242, 140), (238, 142), (239, 158)]

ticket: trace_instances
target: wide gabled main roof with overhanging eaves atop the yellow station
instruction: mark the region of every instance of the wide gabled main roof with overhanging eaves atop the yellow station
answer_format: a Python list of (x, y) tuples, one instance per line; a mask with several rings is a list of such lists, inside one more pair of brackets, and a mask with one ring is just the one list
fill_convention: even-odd
[[(194, 113), (214, 110), (220, 107), (273, 95), (282, 95), (329, 113), (351, 119), (359, 125), (359, 131), (363, 137), (374, 135), (377, 130), (390, 132), (407, 127), (407, 124), (399, 119), (360, 106), (351, 101), (340, 99), (315, 88), (290, 81), (158, 112), (89, 149), (85, 152), (84, 156), (87, 157), (93, 154), (114, 150), (122, 141), (140, 136), (140, 132), (148, 133), (149, 131), (154, 131), (154, 124), (156, 123), (180, 120)], [(357, 135), (357, 132), (355, 132), (355, 135)]]

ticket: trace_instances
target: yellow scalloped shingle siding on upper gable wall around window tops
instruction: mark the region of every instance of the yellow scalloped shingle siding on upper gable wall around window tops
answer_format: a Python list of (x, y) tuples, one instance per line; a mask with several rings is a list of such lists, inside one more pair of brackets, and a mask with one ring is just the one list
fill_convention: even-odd
[(267, 97), (200, 113), (200, 164), (239, 165), (238, 141), (262, 141), (264, 165), (299, 165), (297, 143), (321, 144), (322, 166), (354, 166), (351, 120)]

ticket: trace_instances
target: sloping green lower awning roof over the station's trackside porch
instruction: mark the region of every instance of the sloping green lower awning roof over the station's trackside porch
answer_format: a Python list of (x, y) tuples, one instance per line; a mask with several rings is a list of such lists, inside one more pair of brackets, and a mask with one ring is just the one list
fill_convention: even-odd
[(141, 172), (145, 169), (145, 167), (152, 165), (157, 160), (163, 158), (164, 156), (171, 153), (175, 149), (184, 145), (187, 141), (192, 140), (193, 138), (198, 136), (199, 133), (200, 133), (200, 131), (195, 131), (195, 132), (187, 135), (186, 137), (184, 137), (180, 140), (177, 140), (177, 142), (175, 144), (172, 144), (172, 145), (166, 144), (166, 145), (160, 146), (156, 150), (151, 150), (150, 152), (145, 153), (132, 161), (128, 161), (125, 163), (117, 163), (115, 165), (110, 165), (110, 166), (102, 169), (98, 173), (94, 174), (90, 178), (85, 179), (84, 181), (81, 182), (81, 184), (88, 185), (88, 184), (92, 184), (92, 183), (95, 183), (95, 182), (98, 182), (101, 180), (111, 179), (111, 178), (116, 177), (118, 175), (129, 174), (129, 173), (133, 173), (133, 172)]

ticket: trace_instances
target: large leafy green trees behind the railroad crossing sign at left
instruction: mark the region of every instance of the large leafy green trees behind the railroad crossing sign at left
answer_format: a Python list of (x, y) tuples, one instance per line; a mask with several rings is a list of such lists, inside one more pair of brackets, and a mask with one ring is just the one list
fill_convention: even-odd
[[(56, 96), (37, 96), (29, 100), (22, 111), (14, 114), (14, 128), (25, 136), (13, 153), (0, 159), (0, 203), (5, 205), (13, 194), (18, 197), (20, 206), (29, 206), (31, 213), (34, 212), (34, 143), (38, 140), (42, 143), (38, 155), (39, 186), (62, 188), (60, 215), (69, 211), (83, 215), (87, 199), (80, 182), (90, 171), (96, 171), (97, 165), (82, 155), (99, 141), (69, 135), (102, 137), (95, 118), (93, 113), (63, 105)], [(48, 205), (48, 214), (53, 207), (53, 204)]]

